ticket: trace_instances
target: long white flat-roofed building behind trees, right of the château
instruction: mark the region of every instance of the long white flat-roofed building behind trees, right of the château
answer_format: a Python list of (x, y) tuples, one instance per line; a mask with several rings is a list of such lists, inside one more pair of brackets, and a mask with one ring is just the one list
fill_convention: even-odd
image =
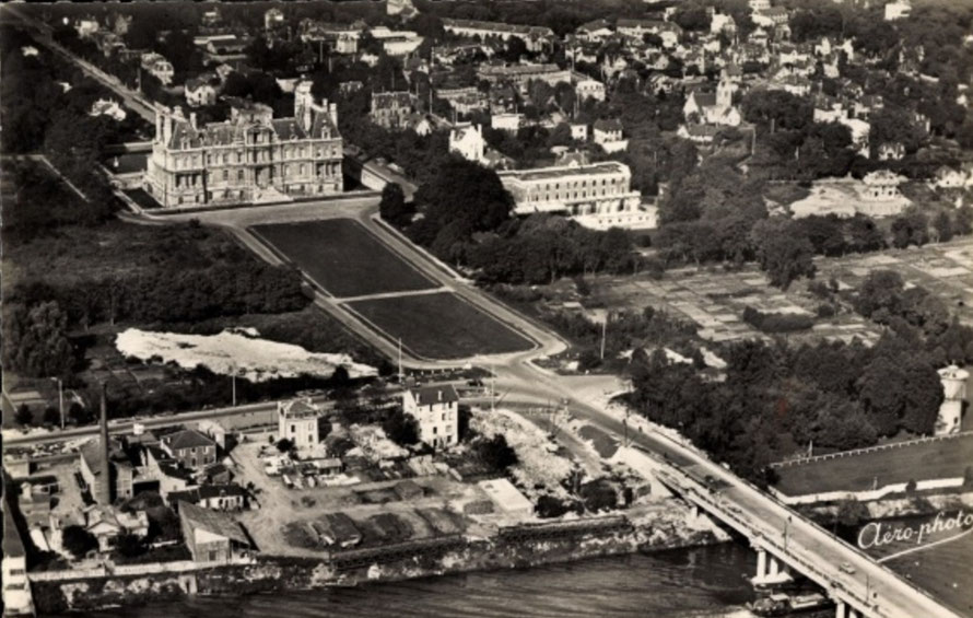
[(632, 171), (617, 161), (500, 172), (517, 214), (563, 212), (586, 228), (654, 228), (655, 212), (642, 208), (631, 188)]

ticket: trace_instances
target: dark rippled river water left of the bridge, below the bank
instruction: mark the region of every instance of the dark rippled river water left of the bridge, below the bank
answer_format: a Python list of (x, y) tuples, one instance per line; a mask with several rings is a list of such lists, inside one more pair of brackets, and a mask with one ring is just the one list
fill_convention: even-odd
[[(92, 614), (97, 618), (427, 618), (749, 616), (743, 545), (599, 558), (514, 571), (447, 575), (354, 588), (180, 603)], [(73, 616), (78, 616), (74, 614)]]

